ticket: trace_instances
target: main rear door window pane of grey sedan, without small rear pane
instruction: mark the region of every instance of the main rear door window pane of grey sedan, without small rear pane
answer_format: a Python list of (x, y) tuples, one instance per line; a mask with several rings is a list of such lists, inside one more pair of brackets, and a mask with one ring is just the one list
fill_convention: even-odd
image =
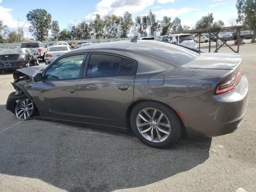
[(120, 61), (120, 57), (92, 54), (88, 64), (87, 76), (100, 77), (119, 75)]

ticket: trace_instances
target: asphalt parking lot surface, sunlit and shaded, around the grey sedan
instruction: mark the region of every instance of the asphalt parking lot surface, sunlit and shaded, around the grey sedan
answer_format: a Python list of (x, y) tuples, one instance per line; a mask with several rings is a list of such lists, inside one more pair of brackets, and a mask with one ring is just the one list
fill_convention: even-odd
[(5, 109), (12, 72), (0, 74), (0, 191), (256, 191), (256, 45), (240, 53), (250, 89), (242, 125), (167, 149), (110, 129), (20, 121)]

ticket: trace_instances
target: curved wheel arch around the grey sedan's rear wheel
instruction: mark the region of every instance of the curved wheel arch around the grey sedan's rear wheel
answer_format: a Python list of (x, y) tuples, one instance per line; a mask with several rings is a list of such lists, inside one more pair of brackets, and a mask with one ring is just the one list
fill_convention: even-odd
[(132, 104), (130, 104), (130, 106), (128, 107), (127, 111), (126, 111), (126, 128), (127, 128), (127, 131), (129, 133), (132, 133), (132, 129), (131, 129), (131, 124), (130, 124), (130, 114), (132, 112), (132, 109), (134, 108), (134, 106), (136, 106), (138, 103), (141, 103), (141, 102), (156, 102), (156, 103), (159, 103), (159, 104), (162, 104), (168, 108), (170, 108), (170, 110), (173, 110), (177, 115), (178, 117), (180, 118), (180, 121), (182, 122), (182, 136), (184, 135), (187, 135), (187, 132), (186, 132), (186, 128), (184, 126), (184, 122), (182, 121), (182, 118), (180, 117), (181, 114), (178, 114), (176, 110), (174, 110), (171, 106), (167, 105), (166, 103), (163, 103), (163, 102), (160, 102), (160, 101), (157, 101), (157, 100), (138, 100), (138, 101), (135, 101), (133, 102)]

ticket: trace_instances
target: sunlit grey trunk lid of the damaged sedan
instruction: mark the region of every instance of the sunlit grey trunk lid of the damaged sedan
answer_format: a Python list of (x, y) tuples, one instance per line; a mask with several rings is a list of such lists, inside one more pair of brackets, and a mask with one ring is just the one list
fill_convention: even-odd
[(182, 65), (184, 68), (195, 69), (227, 69), (235, 70), (240, 65), (240, 54), (200, 53), (193, 61)]

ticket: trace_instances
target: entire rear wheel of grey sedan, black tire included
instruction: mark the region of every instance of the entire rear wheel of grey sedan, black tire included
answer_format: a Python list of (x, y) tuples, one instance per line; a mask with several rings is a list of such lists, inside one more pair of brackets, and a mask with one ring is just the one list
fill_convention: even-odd
[(180, 139), (183, 126), (174, 110), (152, 101), (140, 102), (134, 106), (130, 124), (134, 134), (142, 142), (156, 148), (175, 144)]

